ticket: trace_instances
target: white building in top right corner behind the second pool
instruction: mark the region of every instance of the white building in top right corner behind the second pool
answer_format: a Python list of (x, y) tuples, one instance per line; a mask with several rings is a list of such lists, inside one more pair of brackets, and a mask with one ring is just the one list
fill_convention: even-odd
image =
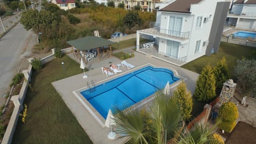
[(230, 7), (226, 24), (256, 30), (256, 0), (235, 0)]

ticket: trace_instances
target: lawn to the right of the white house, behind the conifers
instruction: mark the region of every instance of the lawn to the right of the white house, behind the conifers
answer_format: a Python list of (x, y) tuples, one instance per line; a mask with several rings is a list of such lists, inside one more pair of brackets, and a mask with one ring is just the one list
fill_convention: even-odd
[(242, 56), (251, 58), (253, 50), (255, 50), (254, 47), (221, 42), (218, 53), (214, 53), (210, 57), (204, 55), (201, 58), (183, 65), (182, 68), (186, 68), (200, 74), (202, 68), (208, 63), (210, 66), (215, 66), (222, 57), (225, 57), (229, 70), (232, 70), (237, 59), (241, 59)]

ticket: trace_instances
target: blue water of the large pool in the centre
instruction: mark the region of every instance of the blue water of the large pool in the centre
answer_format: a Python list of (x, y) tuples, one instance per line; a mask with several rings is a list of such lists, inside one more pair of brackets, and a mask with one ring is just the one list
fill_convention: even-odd
[(130, 107), (163, 89), (167, 81), (172, 84), (178, 80), (169, 69), (148, 66), (81, 94), (106, 119), (108, 110), (113, 110), (113, 106), (123, 110), (124, 106)]

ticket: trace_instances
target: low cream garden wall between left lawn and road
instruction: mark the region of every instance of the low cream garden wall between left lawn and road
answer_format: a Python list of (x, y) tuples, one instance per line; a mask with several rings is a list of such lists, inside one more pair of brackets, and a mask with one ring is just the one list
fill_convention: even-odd
[[(53, 52), (52, 54), (41, 59), (42, 65), (54, 59), (54, 50), (52, 50), (52, 52)], [(61, 53), (68, 53), (68, 52), (71, 52), (71, 47), (61, 50)], [(31, 60), (31, 59), (29, 59), (29, 60)], [(22, 105), (23, 105), (23, 101), (24, 101), (26, 93), (27, 93), (28, 84), (30, 82), (30, 77), (32, 74), (32, 66), (29, 65), (28, 69), (23, 70), (22, 73), (24, 74), (25, 81), (22, 84), (20, 93), (18, 95), (13, 95), (11, 97), (11, 101), (13, 101), (13, 103), (14, 103), (14, 109), (13, 109), (9, 124), (7, 126), (7, 129), (5, 131), (4, 138), (2, 140), (2, 144), (11, 144), (12, 143), (12, 138), (13, 138), (13, 134), (15, 132), (16, 126), (17, 126), (20, 111), (23, 109)]]

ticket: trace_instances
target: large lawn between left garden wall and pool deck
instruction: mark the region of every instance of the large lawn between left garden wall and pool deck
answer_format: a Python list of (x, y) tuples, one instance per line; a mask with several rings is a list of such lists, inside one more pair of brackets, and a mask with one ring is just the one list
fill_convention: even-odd
[(26, 123), (19, 118), (12, 143), (92, 143), (51, 84), (79, 73), (78, 63), (66, 55), (33, 72), (33, 92), (28, 89), (24, 102), (28, 106)]

